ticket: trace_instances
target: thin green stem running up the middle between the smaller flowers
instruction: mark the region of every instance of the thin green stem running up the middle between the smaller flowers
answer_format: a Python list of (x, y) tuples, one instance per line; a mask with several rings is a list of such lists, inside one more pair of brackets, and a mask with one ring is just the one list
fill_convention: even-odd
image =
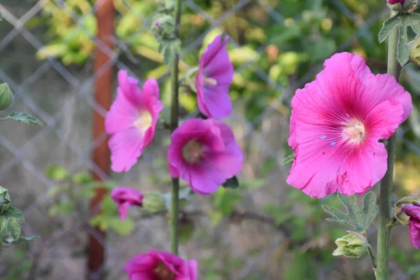
[[(174, 16), (174, 36), (176, 40), (180, 39), (179, 26), (181, 22), (181, 0), (175, 0)], [(171, 104), (171, 127), (172, 132), (178, 127), (179, 120), (179, 53), (174, 55), (171, 66), (171, 89), (172, 89), (172, 104)], [(172, 203), (171, 203), (171, 251), (178, 255), (179, 247), (179, 178), (172, 178)]]

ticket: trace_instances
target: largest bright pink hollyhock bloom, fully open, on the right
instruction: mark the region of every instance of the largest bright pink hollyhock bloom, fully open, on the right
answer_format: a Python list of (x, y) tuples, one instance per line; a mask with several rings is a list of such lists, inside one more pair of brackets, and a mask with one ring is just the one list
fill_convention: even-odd
[(412, 110), (408, 92), (388, 74), (373, 75), (358, 55), (324, 63), (292, 100), (295, 162), (287, 183), (311, 197), (363, 194), (386, 172), (388, 139)]

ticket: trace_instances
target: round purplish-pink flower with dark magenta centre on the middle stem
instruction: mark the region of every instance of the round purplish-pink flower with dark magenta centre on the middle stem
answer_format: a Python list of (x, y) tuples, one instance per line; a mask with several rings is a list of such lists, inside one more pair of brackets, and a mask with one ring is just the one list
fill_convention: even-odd
[(168, 148), (169, 171), (181, 176), (195, 193), (214, 193), (242, 169), (244, 155), (228, 125), (194, 118), (172, 133)]

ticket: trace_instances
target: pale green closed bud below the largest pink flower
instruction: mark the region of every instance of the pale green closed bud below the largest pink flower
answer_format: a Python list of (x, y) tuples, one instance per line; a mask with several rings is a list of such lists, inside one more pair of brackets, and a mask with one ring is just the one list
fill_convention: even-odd
[(349, 235), (335, 240), (338, 248), (332, 255), (344, 255), (347, 258), (360, 258), (367, 252), (367, 239), (358, 232), (348, 231)]

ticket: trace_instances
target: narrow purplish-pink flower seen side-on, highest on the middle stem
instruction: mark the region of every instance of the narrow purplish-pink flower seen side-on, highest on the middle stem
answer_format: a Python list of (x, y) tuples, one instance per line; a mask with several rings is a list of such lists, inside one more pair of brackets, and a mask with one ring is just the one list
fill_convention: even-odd
[(233, 65), (226, 50), (228, 39), (225, 36), (222, 41), (219, 35), (207, 46), (195, 76), (198, 108), (209, 118), (228, 118), (232, 113), (229, 86)]

